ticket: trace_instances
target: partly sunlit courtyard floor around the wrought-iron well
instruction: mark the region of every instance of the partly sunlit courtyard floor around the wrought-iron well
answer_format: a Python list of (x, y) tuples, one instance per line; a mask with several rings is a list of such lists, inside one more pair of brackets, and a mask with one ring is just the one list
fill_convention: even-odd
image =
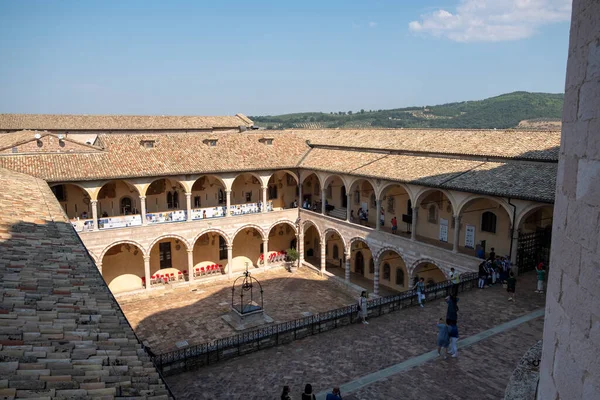
[[(275, 323), (355, 301), (341, 286), (306, 267), (293, 274), (275, 268), (253, 276), (263, 285), (264, 308)], [(175, 343), (181, 340), (194, 345), (239, 333), (221, 319), (229, 311), (231, 286), (230, 281), (215, 281), (155, 292), (143, 299), (121, 297), (118, 301), (136, 334), (159, 354), (177, 349)]]

